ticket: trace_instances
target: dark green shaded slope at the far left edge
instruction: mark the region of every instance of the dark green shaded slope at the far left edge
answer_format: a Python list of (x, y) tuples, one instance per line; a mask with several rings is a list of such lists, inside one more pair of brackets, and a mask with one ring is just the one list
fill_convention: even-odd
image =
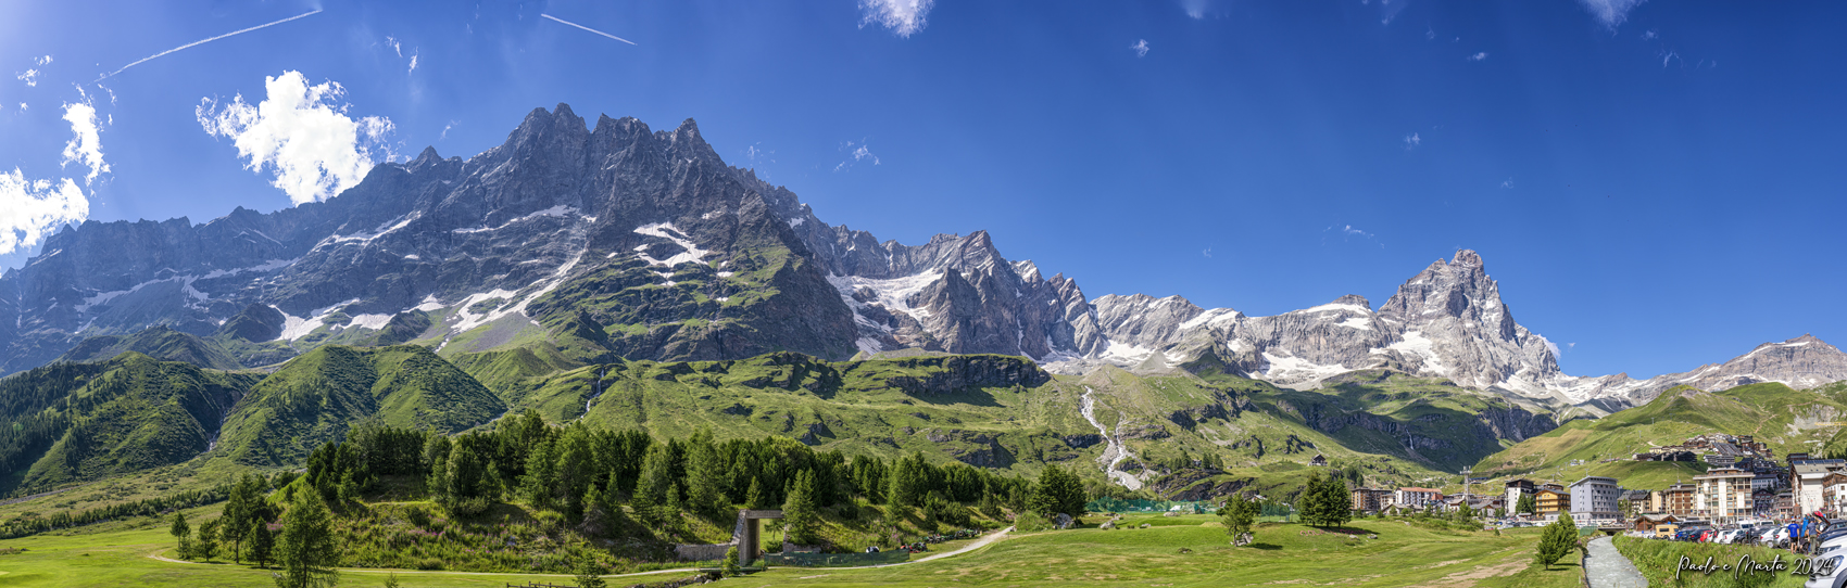
[(44, 488), (175, 465), (205, 452), (255, 374), (139, 352), (0, 380), (9, 429), (0, 490)]

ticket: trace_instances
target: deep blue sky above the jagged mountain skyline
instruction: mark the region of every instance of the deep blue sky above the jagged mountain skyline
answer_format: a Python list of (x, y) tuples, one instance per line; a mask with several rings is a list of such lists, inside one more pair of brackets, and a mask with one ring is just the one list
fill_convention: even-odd
[[(563, 101), (696, 118), (829, 223), (986, 229), (1092, 297), (1378, 306), (1476, 249), (1566, 372), (1651, 376), (1847, 345), (1841, 22), (1840, 2), (7, 2), (0, 262), (72, 219), (268, 212), (425, 146), (469, 157)], [(294, 116), (262, 118), (288, 92)], [(332, 146), (262, 155), (288, 133)]]

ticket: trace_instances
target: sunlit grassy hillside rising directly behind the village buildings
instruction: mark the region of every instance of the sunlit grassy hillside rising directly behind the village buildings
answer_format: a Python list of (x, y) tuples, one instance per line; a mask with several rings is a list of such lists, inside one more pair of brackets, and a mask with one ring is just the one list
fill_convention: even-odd
[[(1509, 476), (1614, 476), (1624, 487), (1660, 488), (1675, 477), (1688, 479), (1703, 463), (1633, 463), (1635, 453), (1677, 444), (1705, 433), (1753, 435), (1777, 455), (1814, 452), (1836, 428), (1821, 422), (1843, 420), (1847, 387), (1836, 383), (1816, 391), (1795, 391), (1782, 383), (1751, 383), (1707, 393), (1675, 387), (1649, 404), (1598, 420), (1572, 420), (1555, 431), (1527, 439), (1476, 465), (1478, 472)], [(1605, 459), (1616, 459), (1605, 463)], [(1583, 461), (1572, 466), (1572, 461)]]

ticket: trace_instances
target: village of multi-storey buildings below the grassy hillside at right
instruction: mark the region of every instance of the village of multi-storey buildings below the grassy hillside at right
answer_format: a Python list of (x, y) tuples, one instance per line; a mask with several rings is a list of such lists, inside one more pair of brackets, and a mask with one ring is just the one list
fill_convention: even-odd
[(1439, 488), (1352, 488), (1358, 512), (1437, 511), (1494, 518), (1505, 527), (1540, 525), (1570, 514), (1579, 527), (1657, 535), (1701, 527), (1738, 529), (1799, 522), (1810, 512), (1847, 511), (1847, 459), (1790, 453), (1782, 461), (1751, 435), (1708, 433), (1681, 444), (1635, 453), (1633, 461), (1703, 461), (1707, 470), (1666, 488), (1625, 488), (1620, 479), (1585, 476), (1577, 481), (1516, 477), (1481, 481), (1461, 494)]

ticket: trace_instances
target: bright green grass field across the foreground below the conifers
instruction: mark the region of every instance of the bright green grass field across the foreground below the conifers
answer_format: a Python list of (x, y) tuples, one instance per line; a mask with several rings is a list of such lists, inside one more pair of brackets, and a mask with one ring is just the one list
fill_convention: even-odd
[[(778, 568), (737, 586), (1577, 586), (1568, 564), (1531, 566), (1537, 531), (1430, 531), (1396, 520), (1359, 520), (1359, 535), (1293, 523), (1263, 523), (1256, 544), (1232, 547), (1213, 516), (1129, 516), (1127, 529), (1023, 533), (977, 551), (892, 568)], [(1153, 523), (1140, 529), (1140, 523)], [(1369, 538), (1378, 535), (1378, 538)], [(0, 542), (6, 586), (273, 586), (270, 571), (235, 564), (185, 564), (159, 527), (91, 535), (41, 535)], [(938, 546), (949, 551), (955, 546)], [(395, 571), (403, 586), (506, 586), (528, 581), (573, 584), (561, 575)], [(342, 586), (382, 586), (384, 570), (345, 570)], [(659, 582), (685, 573), (610, 579), (613, 586)], [(731, 582), (728, 582), (731, 584)]]

